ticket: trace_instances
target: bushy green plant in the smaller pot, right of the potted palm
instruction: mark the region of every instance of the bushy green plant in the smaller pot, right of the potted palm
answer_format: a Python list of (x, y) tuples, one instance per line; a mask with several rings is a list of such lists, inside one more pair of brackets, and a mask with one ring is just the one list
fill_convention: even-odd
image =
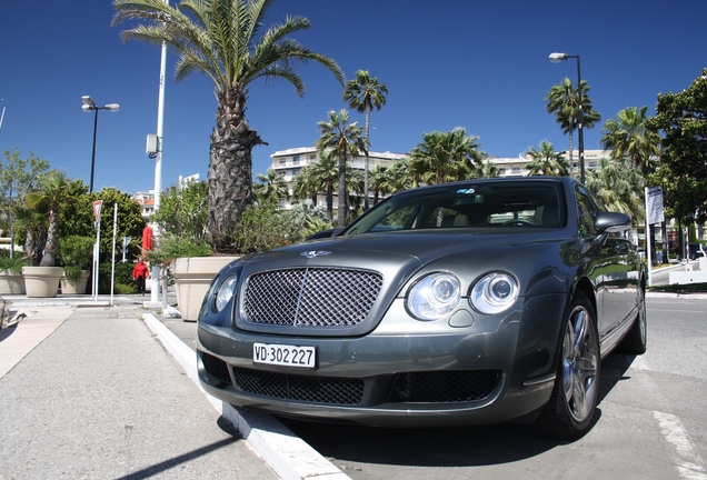
[(59, 263), (63, 266), (62, 294), (86, 293), (94, 243), (92, 237), (69, 236), (59, 239)]

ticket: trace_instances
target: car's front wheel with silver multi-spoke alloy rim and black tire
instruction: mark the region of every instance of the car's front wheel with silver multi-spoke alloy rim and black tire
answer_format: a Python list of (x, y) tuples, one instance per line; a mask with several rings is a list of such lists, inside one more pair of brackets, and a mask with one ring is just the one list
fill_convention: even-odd
[(599, 334), (591, 302), (580, 291), (562, 322), (557, 378), (535, 430), (564, 440), (584, 437), (594, 424), (599, 398)]

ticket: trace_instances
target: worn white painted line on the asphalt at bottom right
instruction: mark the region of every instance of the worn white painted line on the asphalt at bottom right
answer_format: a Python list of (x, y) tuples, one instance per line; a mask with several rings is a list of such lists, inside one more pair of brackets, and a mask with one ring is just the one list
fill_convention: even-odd
[(653, 412), (663, 437), (674, 447), (673, 461), (681, 479), (707, 480), (705, 463), (693, 446), (680, 420), (670, 413)]

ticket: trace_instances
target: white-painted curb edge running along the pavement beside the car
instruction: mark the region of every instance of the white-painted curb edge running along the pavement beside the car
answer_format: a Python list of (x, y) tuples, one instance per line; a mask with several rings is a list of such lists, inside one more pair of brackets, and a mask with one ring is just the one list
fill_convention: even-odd
[(267, 413), (246, 412), (207, 393), (199, 384), (197, 356), (152, 313), (143, 314), (145, 323), (167, 351), (181, 364), (187, 374), (248, 441), (250, 447), (282, 479), (301, 480), (316, 477), (322, 480), (351, 480), (288, 428)]

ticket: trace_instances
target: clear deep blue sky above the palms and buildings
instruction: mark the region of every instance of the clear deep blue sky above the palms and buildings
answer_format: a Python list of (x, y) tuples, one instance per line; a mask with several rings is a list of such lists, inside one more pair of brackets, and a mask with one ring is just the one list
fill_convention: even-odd
[[(175, 4), (175, 0), (170, 0)], [(601, 123), (658, 93), (687, 88), (707, 67), (704, 0), (277, 0), (266, 23), (286, 14), (312, 27), (295, 38), (333, 58), (347, 79), (368, 70), (388, 87), (371, 114), (371, 150), (406, 153), (424, 132), (465, 127), (490, 156), (517, 157), (541, 140), (567, 149), (545, 94), (576, 61), (550, 63), (554, 51), (581, 56)], [(120, 111), (99, 112), (94, 190), (126, 192), (155, 186), (146, 137), (157, 130), (160, 50), (111, 27), (109, 0), (22, 0), (0, 3), (0, 150), (33, 151), (72, 179), (90, 178), (93, 113), (81, 96)], [(168, 56), (162, 186), (179, 176), (206, 178), (215, 124), (213, 88), (201, 74), (173, 81)], [(253, 83), (247, 118), (269, 146), (253, 150), (253, 172), (270, 154), (310, 147), (317, 122), (346, 108), (342, 87), (321, 66), (300, 68), (299, 98), (286, 82)], [(354, 120), (364, 124), (362, 114)], [(585, 148), (599, 148), (600, 126)]]

